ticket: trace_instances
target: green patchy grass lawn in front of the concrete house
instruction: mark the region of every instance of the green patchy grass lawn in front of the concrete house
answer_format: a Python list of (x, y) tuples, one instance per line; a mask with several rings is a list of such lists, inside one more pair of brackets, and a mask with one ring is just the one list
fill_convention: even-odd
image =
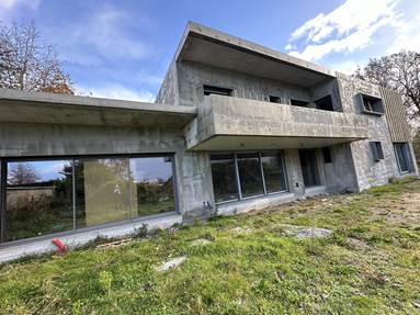
[[(332, 229), (299, 239), (284, 224)], [(192, 246), (197, 238), (211, 240)], [(166, 272), (155, 266), (185, 255)], [(418, 314), (420, 181), (0, 267), (0, 314)]]

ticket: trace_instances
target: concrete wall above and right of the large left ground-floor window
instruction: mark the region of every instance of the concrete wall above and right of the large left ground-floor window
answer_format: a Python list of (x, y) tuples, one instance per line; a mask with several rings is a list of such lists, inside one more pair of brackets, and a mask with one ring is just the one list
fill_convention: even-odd
[(0, 157), (118, 154), (175, 155), (179, 211), (203, 211), (211, 202), (209, 162), (205, 154), (185, 153), (181, 130), (78, 125), (0, 125)]

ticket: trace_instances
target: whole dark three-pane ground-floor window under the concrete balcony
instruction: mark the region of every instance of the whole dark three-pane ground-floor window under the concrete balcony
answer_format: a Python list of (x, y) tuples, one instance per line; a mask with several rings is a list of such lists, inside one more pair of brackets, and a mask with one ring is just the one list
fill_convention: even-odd
[(211, 164), (216, 203), (286, 190), (280, 151), (214, 154)]

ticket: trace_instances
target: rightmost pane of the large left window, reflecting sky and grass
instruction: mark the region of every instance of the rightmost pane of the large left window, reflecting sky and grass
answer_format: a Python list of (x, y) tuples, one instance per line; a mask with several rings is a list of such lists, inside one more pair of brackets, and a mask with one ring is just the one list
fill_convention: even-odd
[(129, 159), (133, 217), (175, 210), (172, 159)]

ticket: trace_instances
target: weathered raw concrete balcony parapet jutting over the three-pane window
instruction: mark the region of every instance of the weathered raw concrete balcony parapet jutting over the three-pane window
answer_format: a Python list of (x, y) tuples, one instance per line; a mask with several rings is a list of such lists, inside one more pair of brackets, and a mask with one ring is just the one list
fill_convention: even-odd
[(344, 143), (367, 136), (366, 117), (350, 113), (223, 95), (206, 97), (202, 108), (196, 128), (186, 134), (189, 148), (200, 149), (202, 142), (217, 135), (291, 137), (295, 147), (305, 137), (328, 144), (329, 138)]

